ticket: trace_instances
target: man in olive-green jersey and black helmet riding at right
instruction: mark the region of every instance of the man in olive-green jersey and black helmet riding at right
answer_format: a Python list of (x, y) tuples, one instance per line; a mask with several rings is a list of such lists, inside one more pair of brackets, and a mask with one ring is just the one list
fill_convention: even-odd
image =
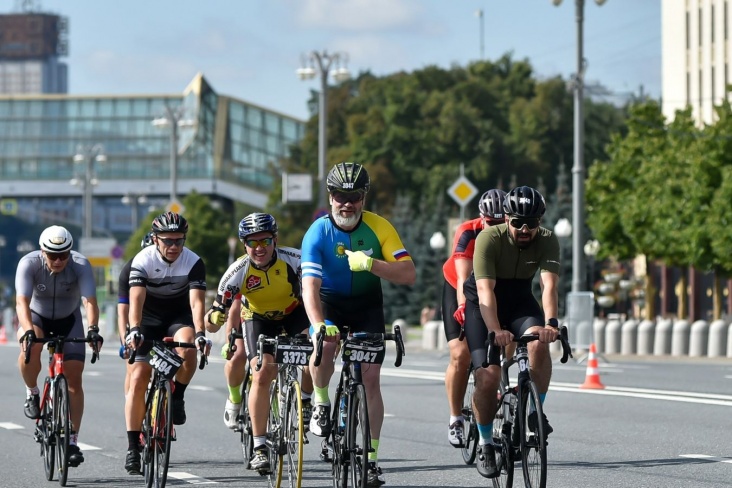
[[(465, 337), (473, 364), (486, 358), (488, 332), (495, 332), (494, 344), (508, 346), (514, 336), (538, 334), (528, 345), (531, 379), (544, 403), (552, 374), (549, 343), (559, 337), (557, 283), (559, 282), (559, 240), (551, 230), (540, 227), (546, 211), (544, 197), (533, 188), (520, 186), (506, 195), (505, 224), (483, 230), (475, 240), (473, 274), (465, 282)], [(541, 277), (541, 306), (532, 293), (537, 271)], [(493, 449), (493, 415), (500, 383), (500, 349), (492, 348), (487, 368), (475, 370), (473, 406), (478, 423), (480, 451), (476, 466), (486, 478), (498, 476)], [(539, 419), (529, 415), (529, 424)], [(544, 434), (552, 428), (546, 419)]]

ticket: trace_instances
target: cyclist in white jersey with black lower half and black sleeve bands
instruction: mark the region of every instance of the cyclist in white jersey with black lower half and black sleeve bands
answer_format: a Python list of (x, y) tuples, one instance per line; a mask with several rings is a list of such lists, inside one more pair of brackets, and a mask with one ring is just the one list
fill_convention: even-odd
[[(130, 270), (130, 332), (126, 343), (137, 350), (130, 373), (125, 403), (128, 451), (125, 469), (140, 474), (140, 430), (145, 415), (145, 389), (152, 367), (146, 358), (150, 344), (143, 339), (198, 343), (210, 350), (203, 324), (206, 294), (206, 267), (203, 260), (184, 247), (188, 222), (173, 212), (152, 222), (154, 245), (141, 250)], [(183, 365), (175, 376), (173, 423), (186, 421), (183, 395), (196, 371), (196, 350), (179, 349)]]

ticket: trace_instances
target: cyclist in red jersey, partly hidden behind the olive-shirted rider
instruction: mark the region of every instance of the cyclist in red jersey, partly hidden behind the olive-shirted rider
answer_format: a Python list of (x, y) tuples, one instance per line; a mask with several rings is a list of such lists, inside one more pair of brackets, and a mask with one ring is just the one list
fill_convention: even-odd
[(458, 226), (452, 243), (452, 254), (442, 267), (445, 275), (442, 288), (442, 315), (445, 337), (450, 349), (450, 362), (445, 371), (445, 388), (450, 406), (447, 438), (454, 447), (462, 447), (465, 442), (462, 404), (468, 385), (466, 372), (470, 365), (468, 345), (461, 337), (465, 322), (463, 283), (473, 271), (473, 249), (478, 233), (485, 227), (503, 223), (505, 197), (506, 192), (498, 189), (488, 190), (480, 197), (478, 202), (480, 217)]

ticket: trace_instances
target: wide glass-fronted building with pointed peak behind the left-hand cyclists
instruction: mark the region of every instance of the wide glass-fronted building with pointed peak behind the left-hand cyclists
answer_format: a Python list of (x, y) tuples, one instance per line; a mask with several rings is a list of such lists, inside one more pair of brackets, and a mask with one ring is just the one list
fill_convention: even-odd
[[(152, 123), (166, 114), (178, 120), (175, 172), (171, 126)], [(200, 74), (181, 95), (0, 96), (0, 208), (78, 225), (90, 182), (95, 236), (130, 232), (174, 184), (178, 197), (195, 190), (261, 208), (303, 133), (304, 121), (219, 95)], [(75, 162), (96, 145), (106, 161)]]

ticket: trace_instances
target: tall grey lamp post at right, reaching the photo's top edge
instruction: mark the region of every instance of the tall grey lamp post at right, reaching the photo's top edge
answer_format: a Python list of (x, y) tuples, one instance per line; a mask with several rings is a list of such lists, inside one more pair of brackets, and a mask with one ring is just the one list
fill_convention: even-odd
[[(562, 0), (552, 0), (559, 6)], [(602, 5), (605, 0), (595, 0)], [(585, 167), (584, 167), (584, 77), (585, 59), (583, 53), (583, 24), (585, 0), (575, 0), (575, 17), (577, 21), (577, 73), (574, 75), (574, 165), (572, 166), (572, 291), (586, 288), (584, 279), (584, 256), (582, 238), (584, 234), (584, 199), (585, 199)]]

